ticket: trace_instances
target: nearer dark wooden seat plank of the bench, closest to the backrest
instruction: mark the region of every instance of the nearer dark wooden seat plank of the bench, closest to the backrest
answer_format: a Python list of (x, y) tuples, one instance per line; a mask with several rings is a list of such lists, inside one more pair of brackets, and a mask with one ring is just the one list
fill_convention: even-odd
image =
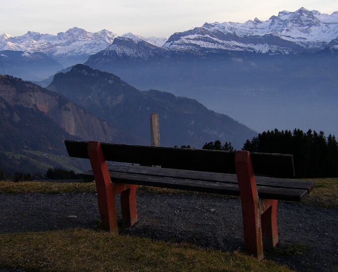
[[(90, 175), (87, 175), (90, 176)], [(91, 176), (92, 177), (92, 176)], [(154, 177), (138, 174), (110, 172), (110, 178), (116, 183), (146, 185), (171, 189), (239, 195), (238, 184)], [(257, 186), (259, 198), (301, 201), (307, 190)]]

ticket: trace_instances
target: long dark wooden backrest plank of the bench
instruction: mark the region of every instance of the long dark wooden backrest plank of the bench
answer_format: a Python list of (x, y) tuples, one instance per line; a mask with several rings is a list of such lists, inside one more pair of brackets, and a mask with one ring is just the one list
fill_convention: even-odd
[[(69, 156), (89, 159), (88, 142), (65, 140)], [(101, 143), (106, 161), (159, 165), (162, 168), (235, 174), (235, 151), (154, 147)], [(295, 176), (293, 157), (286, 154), (251, 153), (254, 173), (270, 177)]]

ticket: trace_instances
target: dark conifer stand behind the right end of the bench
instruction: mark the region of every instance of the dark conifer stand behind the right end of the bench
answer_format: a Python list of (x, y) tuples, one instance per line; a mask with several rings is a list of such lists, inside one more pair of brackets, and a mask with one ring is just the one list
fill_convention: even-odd
[(243, 150), (292, 154), (298, 178), (338, 177), (337, 140), (323, 131), (268, 130), (247, 140)]

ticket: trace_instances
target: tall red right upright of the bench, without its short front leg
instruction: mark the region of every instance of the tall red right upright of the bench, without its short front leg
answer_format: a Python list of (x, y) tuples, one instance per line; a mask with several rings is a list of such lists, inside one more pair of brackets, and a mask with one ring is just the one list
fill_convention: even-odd
[(262, 260), (264, 254), (259, 199), (250, 153), (248, 151), (237, 151), (235, 165), (242, 202), (245, 250), (249, 255)]

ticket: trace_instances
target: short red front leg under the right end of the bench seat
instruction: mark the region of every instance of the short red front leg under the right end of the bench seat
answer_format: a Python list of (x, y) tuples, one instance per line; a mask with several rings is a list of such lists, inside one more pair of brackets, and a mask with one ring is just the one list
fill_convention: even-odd
[(269, 202), (269, 207), (260, 216), (264, 249), (271, 249), (278, 243), (278, 200), (269, 199)]

